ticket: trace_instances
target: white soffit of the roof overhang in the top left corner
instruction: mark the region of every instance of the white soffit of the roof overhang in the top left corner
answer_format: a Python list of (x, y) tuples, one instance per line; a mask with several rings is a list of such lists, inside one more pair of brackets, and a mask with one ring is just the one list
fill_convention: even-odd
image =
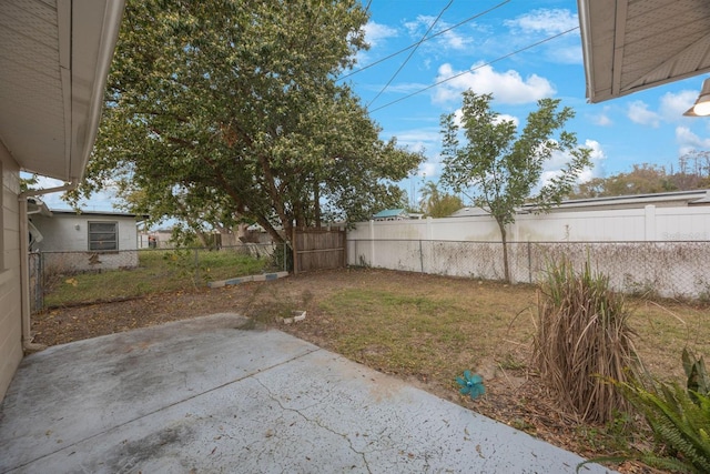
[(0, 141), (21, 169), (78, 181), (124, 0), (0, 1)]

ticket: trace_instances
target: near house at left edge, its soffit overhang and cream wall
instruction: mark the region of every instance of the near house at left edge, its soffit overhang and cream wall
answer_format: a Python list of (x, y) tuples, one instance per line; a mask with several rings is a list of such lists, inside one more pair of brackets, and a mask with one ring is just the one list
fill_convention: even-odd
[[(0, 2), (0, 400), (32, 347), (28, 199), (75, 186), (97, 135), (123, 0)], [(20, 192), (20, 171), (67, 185)]]

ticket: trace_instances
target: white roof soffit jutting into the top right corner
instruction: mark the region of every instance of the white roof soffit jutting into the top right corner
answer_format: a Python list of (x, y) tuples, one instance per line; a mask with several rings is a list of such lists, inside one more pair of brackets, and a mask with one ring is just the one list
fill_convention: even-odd
[(590, 102), (710, 71), (710, 0), (577, 3)]

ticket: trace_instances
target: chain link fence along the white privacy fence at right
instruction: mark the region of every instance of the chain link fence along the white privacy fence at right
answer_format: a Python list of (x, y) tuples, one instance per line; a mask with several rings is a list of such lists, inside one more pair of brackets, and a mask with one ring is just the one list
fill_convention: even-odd
[[(504, 280), (501, 242), (349, 240), (348, 264)], [(514, 283), (537, 283), (562, 258), (586, 262), (630, 294), (710, 300), (710, 241), (508, 242)]]

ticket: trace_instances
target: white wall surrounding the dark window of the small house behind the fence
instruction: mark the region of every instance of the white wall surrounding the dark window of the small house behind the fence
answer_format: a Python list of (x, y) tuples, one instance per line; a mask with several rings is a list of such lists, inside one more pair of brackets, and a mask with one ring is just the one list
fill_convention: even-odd
[[(51, 218), (39, 214), (31, 218), (43, 236), (34, 249), (42, 252), (45, 269), (97, 271), (138, 266), (138, 229), (134, 218), (59, 213)], [(119, 251), (89, 251), (89, 222), (116, 222)]]

